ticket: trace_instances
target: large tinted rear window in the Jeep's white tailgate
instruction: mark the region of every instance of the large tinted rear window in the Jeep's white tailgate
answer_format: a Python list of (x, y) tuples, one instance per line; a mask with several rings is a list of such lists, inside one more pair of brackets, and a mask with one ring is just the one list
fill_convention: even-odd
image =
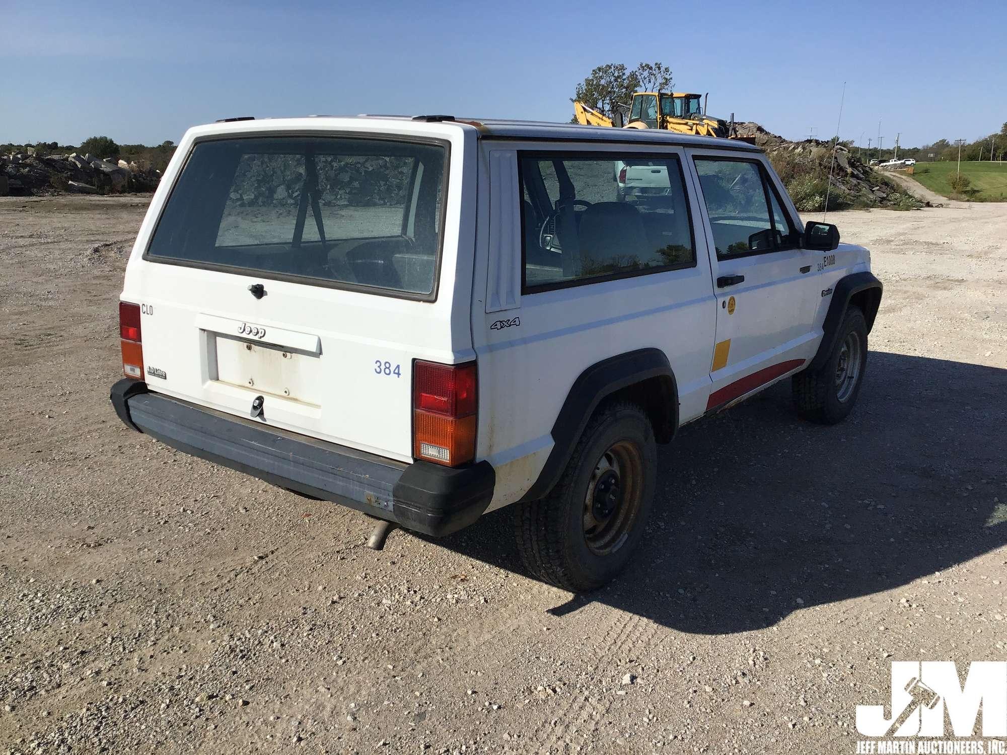
[(355, 138), (197, 144), (147, 256), (430, 295), (445, 148)]

